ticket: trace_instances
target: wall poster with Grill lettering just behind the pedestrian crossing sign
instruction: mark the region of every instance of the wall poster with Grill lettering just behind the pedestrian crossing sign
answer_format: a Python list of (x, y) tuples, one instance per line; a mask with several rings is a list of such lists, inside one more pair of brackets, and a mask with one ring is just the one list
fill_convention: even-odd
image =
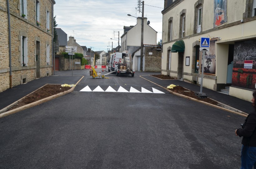
[[(216, 53), (215, 53), (215, 42), (218, 38), (214, 38), (210, 40), (210, 48), (209, 52), (205, 52), (204, 55), (204, 73), (215, 75), (216, 71)], [(201, 56), (203, 52), (201, 52)]]

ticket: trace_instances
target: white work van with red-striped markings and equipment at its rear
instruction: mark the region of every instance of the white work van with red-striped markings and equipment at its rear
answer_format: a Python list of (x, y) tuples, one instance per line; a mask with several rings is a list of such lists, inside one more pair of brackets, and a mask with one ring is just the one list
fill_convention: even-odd
[(108, 71), (119, 74), (131, 74), (132, 77), (134, 73), (132, 71), (131, 55), (127, 53), (114, 53), (111, 54), (110, 60), (108, 62)]

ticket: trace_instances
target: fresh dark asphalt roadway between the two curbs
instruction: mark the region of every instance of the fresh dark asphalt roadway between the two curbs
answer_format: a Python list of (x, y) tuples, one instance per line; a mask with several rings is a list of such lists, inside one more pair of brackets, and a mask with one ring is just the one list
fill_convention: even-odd
[[(147, 73), (82, 74), (74, 92), (0, 119), (1, 169), (240, 168), (243, 116), (172, 95), (139, 77)], [(80, 92), (86, 86), (165, 94)]]

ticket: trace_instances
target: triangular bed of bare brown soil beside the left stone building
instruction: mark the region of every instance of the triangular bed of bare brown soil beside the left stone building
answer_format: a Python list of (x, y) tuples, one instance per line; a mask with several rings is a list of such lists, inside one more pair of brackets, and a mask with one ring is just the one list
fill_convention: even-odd
[(35, 101), (44, 99), (46, 97), (56, 95), (58, 93), (64, 92), (71, 89), (71, 87), (62, 87), (61, 85), (56, 85), (56, 84), (47, 84), (37, 91), (31, 93), (30, 95), (26, 96), (22, 100), (18, 101), (15, 105), (9, 107), (7, 111), (16, 109), (18, 107), (27, 105), (29, 103), (33, 103)]

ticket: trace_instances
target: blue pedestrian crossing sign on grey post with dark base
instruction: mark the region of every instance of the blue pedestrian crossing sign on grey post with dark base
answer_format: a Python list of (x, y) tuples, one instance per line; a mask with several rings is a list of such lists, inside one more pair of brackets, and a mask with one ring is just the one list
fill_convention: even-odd
[(203, 78), (204, 78), (204, 57), (205, 57), (205, 52), (209, 51), (209, 47), (210, 47), (210, 38), (206, 38), (206, 37), (201, 37), (200, 38), (200, 51), (203, 52), (203, 58), (202, 58), (202, 66), (201, 66), (201, 71), (202, 71), (202, 74), (201, 74), (201, 85), (200, 85), (200, 93), (199, 92), (196, 92), (196, 95), (201, 98), (201, 99), (204, 99), (204, 98), (207, 98), (207, 94), (206, 93), (203, 93), (202, 90), (203, 90)]

